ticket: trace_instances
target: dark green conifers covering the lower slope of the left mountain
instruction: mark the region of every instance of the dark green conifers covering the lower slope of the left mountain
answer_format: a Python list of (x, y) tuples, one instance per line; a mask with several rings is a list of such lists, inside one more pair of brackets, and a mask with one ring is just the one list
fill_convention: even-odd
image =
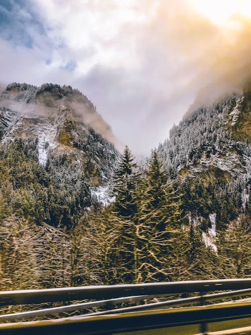
[(79, 167), (63, 157), (53, 162), (51, 159), (46, 171), (38, 163), (36, 147), (36, 140), (31, 139), (3, 146), (0, 159), (3, 202), (10, 213), (38, 224), (46, 222), (69, 229), (90, 205), (86, 178)]

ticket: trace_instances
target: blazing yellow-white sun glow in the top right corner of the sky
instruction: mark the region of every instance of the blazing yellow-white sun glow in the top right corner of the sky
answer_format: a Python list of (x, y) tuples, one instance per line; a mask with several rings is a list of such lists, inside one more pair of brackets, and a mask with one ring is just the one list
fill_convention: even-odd
[(195, 10), (217, 25), (226, 25), (235, 15), (251, 17), (250, 0), (190, 0)]

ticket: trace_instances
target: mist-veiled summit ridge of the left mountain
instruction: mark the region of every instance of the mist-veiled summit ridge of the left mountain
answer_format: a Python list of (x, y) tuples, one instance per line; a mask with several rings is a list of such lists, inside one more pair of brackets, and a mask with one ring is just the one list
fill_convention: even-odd
[(20, 116), (35, 114), (49, 117), (59, 108), (72, 111), (73, 118), (80, 121), (108, 141), (117, 142), (110, 126), (104, 122), (96, 107), (79, 90), (71, 86), (44, 84), (40, 87), (29, 84), (13, 83), (2, 91), (1, 105), (17, 112)]

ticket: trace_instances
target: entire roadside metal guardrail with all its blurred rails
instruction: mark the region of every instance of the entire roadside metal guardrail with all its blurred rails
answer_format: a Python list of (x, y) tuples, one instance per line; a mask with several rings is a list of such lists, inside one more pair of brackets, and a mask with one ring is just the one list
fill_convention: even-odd
[[(238, 288), (238, 290), (236, 290), (236, 288)], [(204, 295), (205, 292), (209, 291), (233, 289), (235, 289), (235, 291)], [(206, 333), (207, 322), (215, 322), (219, 319), (222, 321), (251, 316), (251, 302), (249, 301), (235, 304), (214, 304), (209, 306), (160, 310), (160, 308), (181, 306), (194, 302), (204, 305), (207, 301), (234, 296), (246, 296), (251, 293), (251, 279), (247, 278), (5, 291), (0, 292), (0, 305), (2, 306), (82, 299), (108, 299), (1, 315), (0, 321), (18, 320), (73, 310), (84, 310), (91, 307), (107, 306), (123, 302), (137, 302), (140, 300), (152, 299), (154, 297), (166, 297), (170, 294), (190, 292), (200, 292), (200, 295), (196, 297), (99, 311), (61, 319), (4, 323), (0, 324), (0, 332), (1, 334), (8, 335), (20, 333), (25, 333), (27, 335), (33, 333), (36, 333), (36, 335), (39, 335), (40, 333), (46, 333), (48, 335), (84, 335), (200, 323), (201, 332)], [(149, 311), (149, 309), (151, 310)]]

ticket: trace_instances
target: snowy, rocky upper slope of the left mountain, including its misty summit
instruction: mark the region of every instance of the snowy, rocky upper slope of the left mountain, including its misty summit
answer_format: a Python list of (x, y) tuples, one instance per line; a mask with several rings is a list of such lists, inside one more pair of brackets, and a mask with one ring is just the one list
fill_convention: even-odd
[(116, 139), (90, 100), (70, 86), (13, 83), (0, 94), (0, 141), (36, 139), (40, 165), (58, 161), (83, 168), (92, 187), (109, 179), (119, 153)]

